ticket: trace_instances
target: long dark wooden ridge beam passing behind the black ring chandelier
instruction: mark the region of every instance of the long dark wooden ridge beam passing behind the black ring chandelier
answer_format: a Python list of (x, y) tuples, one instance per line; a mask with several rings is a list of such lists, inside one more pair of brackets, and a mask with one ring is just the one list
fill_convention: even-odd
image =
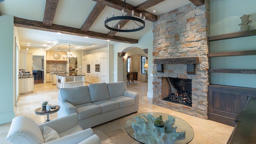
[[(122, 0), (93, 0), (93, 1), (100, 2), (101, 4), (104, 4), (106, 6), (109, 6), (117, 10), (124, 9), (124, 2)], [(146, 16), (146, 20), (149, 20), (151, 22), (157, 21), (156, 15), (146, 11), (138, 11), (136, 10), (136, 6), (132, 6), (131, 4), (126, 3), (126, 8), (128, 9), (128, 12), (130, 14), (132, 13), (132, 10), (134, 10), (134, 16), (140, 17), (140, 13), (142, 13), (143, 16)]]

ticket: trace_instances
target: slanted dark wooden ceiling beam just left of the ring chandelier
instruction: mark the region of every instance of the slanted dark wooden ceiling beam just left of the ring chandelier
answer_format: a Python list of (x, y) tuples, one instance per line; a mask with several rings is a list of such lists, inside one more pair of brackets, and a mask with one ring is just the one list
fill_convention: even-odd
[(94, 6), (91, 13), (89, 14), (88, 18), (84, 22), (84, 24), (81, 28), (82, 32), (87, 32), (89, 30), (89, 28), (92, 26), (92, 24), (98, 18), (98, 16), (100, 15), (100, 13), (102, 12), (102, 10), (104, 8), (105, 8), (105, 5), (100, 4), (99, 2), (97, 2), (97, 4)]

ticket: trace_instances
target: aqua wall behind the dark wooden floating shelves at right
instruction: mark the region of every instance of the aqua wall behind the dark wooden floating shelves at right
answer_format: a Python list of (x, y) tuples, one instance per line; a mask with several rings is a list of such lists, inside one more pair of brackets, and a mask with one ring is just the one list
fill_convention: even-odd
[[(239, 32), (240, 17), (250, 14), (250, 30), (256, 29), (256, 0), (210, 2), (210, 36)], [(210, 42), (210, 52), (255, 50), (256, 36)], [(256, 56), (212, 57), (210, 68), (256, 69)], [(211, 73), (211, 84), (256, 88), (256, 74)]]

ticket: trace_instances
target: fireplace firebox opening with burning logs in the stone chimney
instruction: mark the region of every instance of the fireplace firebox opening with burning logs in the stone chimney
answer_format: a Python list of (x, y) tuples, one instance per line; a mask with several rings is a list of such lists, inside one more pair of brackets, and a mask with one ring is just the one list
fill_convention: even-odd
[(192, 106), (192, 80), (163, 77), (162, 100)]

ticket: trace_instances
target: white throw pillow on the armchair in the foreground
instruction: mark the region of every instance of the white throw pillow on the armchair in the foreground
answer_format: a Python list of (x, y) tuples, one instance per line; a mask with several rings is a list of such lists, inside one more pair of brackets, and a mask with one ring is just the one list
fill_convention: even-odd
[(44, 142), (49, 142), (51, 140), (60, 138), (59, 134), (49, 126), (44, 126), (43, 137), (44, 137)]

